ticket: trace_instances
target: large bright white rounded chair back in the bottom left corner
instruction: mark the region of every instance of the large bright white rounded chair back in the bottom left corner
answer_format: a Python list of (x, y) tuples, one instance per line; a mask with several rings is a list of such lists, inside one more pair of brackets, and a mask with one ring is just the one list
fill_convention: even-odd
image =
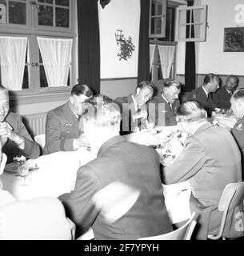
[(0, 207), (2, 240), (71, 240), (74, 222), (58, 198), (32, 198)]

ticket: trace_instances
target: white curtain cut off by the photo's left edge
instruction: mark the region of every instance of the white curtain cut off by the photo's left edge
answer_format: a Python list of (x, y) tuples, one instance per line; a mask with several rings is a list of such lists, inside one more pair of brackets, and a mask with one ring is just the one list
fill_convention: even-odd
[(0, 37), (2, 86), (22, 90), (27, 38)]

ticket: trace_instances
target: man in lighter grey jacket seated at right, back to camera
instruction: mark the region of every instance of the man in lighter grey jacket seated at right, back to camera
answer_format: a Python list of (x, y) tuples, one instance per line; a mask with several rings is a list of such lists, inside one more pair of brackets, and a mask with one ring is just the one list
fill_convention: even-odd
[[(229, 130), (206, 121), (206, 110), (200, 102), (182, 103), (177, 118), (190, 137), (178, 158), (163, 163), (163, 183), (190, 183), (190, 209), (198, 215), (196, 238), (206, 239), (207, 234), (218, 234), (222, 219), (218, 202), (223, 189), (229, 183), (242, 181), (241, 154)], [(241, 211), (242, 205), (229, 211), (224, 237), (243, 235), (235, 229), (235, 214)]]

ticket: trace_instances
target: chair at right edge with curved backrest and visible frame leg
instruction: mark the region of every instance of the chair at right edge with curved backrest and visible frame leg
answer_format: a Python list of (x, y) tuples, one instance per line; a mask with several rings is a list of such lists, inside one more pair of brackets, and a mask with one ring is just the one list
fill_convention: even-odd
[(230, 183), (226, 185), (218, 202), (218, 210), (223, 212), (220, 229), (217, 235), (208, 234), (208, 239), (217, 240), (222, 238), (222, 234), (226, 225), (226, 217), (229, 210), (232, 210), (241, 204), (243, 202), (243, 197), (244, 182)]

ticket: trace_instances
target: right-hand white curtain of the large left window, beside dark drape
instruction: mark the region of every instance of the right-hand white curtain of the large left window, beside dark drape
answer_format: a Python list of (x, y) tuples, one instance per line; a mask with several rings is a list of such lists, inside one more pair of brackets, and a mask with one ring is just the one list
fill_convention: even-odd
[(67, 86), (73, 39), (39, 38), (48, 86)]

